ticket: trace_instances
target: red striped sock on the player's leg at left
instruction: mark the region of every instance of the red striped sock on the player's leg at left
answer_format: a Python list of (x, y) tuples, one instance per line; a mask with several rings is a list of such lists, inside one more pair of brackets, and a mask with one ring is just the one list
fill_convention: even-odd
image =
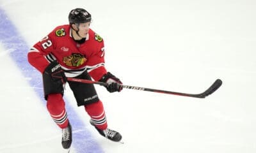
[(68, 119), (65, 110), (65, 102), (61, 94), (49, 94), (47, 99), (47, 110), (52, 119), (61, 128), (67, 128)]

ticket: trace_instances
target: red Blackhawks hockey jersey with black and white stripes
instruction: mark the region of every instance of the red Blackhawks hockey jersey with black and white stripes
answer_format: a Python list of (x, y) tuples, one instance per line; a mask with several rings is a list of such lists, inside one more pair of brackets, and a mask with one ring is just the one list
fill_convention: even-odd
[(104, 41), (92, 29), (86, 41), (77, 43), (71, 36), (70, 25), (56, 27), (28, 52), (28, 61), (41, 73), (51, 61), (57, 60), (67, 77), (88, 71), (94, 80), (107, 73), (104, 67)]

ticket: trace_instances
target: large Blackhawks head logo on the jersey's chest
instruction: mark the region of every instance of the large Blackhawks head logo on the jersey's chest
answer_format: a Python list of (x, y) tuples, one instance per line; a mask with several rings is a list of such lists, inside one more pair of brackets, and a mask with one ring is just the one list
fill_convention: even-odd
[(87, 59), (81, 54), (72, 54), (67, 57), (63, 57), (63, 62), (67, 66), (81, 66), (86, 61)]

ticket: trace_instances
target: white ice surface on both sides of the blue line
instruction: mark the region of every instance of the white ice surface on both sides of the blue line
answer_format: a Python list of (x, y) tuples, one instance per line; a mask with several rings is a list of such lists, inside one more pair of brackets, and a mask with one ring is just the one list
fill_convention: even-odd
[[(100, 136), (67, 89), (68, 103), (106, 153), (256, 152), (255, 6), (252, 0), (0, 0), (30, 46), (67, 24), (73, 8), (88, 10), (92, 29), (105, 40), (106, 68), (124, 84), (199, 93), (223, 80), (205, 99), (129, 89), (109, 94), (97, 86), (109, 128), (124, 144)], [(0, 152), (64, 152), (60, 129), (9, 54), (0, 43)]]

